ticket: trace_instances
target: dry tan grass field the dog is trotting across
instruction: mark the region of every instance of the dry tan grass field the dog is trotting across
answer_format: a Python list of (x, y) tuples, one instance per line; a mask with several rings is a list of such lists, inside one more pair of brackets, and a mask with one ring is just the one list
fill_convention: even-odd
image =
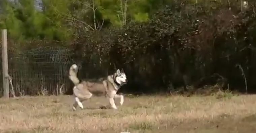
[[(0, 99), (1, 133), (254, 133), (256, 95), (125, 96), (118, 109), (104, 97), (71, 110), (72, 96)], [(102, 102), (102, 103), (100, 103)]]

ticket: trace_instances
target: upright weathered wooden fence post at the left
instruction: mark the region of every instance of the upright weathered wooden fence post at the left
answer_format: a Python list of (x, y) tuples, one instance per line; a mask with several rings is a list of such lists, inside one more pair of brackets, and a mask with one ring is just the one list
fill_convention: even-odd
[(7, 51), (7, 30), (2, 30), (2, 71), (4, 97), (9, 98), (9, 75), (8, 75), (8, 51)]

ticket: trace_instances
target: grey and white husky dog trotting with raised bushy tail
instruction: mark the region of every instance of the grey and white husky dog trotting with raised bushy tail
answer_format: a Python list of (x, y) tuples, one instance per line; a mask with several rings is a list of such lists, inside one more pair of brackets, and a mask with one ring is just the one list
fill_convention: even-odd
[(124, 84), (127, 84), (128, 80), (123, 70), (117, 69), (117, 71), (108, 75), (105, 78), (99, 78), (97, 81), (84, 80), (80, 81), (77, 78), (78, 67), (73, 64), (69, 69), (69, 79), (74, 83), (73, 94), (75, 96), (75, 103), (73, 104), (73, 110), (76, 110), (77, 105), (81, 109), (84, 109), (82, 101), (90, 99), (92, 95), (105, 96), (108, 98), (111, 107), (117, 109), (114, 98), (120, 98), (120, 104), (124, 103), (124, 96), (117, 94), (118, 89)]

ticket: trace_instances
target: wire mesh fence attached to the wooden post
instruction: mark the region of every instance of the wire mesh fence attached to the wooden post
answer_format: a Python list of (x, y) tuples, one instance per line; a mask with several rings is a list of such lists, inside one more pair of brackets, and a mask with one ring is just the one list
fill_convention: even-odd
[[(9, 84), (15, 95), (61, 94), (68, 89), (72, 50), (66, 47), (39, 47), (28, 51), (8, 50)], [(3, 94), (0, 62), (0, 96)]]

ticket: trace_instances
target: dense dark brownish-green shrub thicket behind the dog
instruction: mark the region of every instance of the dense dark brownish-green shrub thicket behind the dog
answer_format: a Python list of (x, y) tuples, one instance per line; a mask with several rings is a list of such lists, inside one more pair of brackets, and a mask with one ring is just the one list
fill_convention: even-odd
[[(199, 0), (198, 0), (199, 1)], [(236, 0), (169, 1), (148, 21), (88, 30), (72, 23), (75, 63), (81, 78), (97, 78), (124, 69), (122, 91), (155, 92), (221, 84), (254, 91), (256, 87), (255, 2)], [(241, 74), (242, 73), (242, 74)], [(246, 81), (244, 76), (246, 77)]]

